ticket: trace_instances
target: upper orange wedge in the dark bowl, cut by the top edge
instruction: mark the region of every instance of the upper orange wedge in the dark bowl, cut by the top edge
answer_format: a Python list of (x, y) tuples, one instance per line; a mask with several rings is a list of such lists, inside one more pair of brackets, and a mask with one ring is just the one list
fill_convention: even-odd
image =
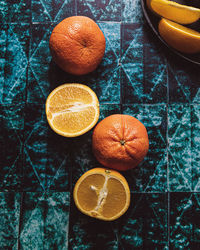
[(200, 9), (168, 0), (147, 0), (147, 6), (157, 15), (181, 24), (190, 24), (200, 18)]

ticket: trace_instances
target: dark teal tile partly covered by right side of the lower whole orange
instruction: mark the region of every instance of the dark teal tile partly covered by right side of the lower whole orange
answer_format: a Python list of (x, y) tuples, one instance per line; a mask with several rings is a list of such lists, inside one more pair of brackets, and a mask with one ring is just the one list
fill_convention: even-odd
[(124, 172), (132, 192), (167, 191), (167, 111), (165, 105), (123, 105), (123, 114), (147, 129), (149, 152), (135, 169)]

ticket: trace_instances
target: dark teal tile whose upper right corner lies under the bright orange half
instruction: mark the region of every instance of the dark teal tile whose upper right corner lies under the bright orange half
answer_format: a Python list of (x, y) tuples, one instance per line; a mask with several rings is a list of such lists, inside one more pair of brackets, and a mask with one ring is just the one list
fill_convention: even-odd
[(24, 191), (69, 191), (70, 139), (57, 135), (47, 123), (44, 105), (25, 111)]

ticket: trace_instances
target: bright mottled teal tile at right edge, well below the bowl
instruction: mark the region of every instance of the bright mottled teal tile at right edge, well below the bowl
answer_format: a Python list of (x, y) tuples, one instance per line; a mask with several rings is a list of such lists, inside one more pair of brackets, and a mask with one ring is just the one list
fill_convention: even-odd
[(199, 191), (199, 105), (170, 105), (170, 191)]

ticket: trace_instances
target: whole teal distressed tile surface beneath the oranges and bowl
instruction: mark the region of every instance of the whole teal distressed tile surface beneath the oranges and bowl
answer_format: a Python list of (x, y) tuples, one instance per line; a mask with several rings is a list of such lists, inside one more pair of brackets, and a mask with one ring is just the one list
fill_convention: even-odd
[[(94, 19), (106, 38), (99, 67), (85, 76), (52, 61), (49, 36), (71, 15)], [(0, 249), (200, 249), (199, 68), (168, 54), (152, 35), (139, 0), (0, 1)], [(100, 101), (100, 120), (133, 115), (150, 149), (122, 173), (131, 189), (127, 213), (114, 222), (81, 214), (77, 179), (98, 167), (92, 130), (54, 133), (45, 100), (80, 82)]]

